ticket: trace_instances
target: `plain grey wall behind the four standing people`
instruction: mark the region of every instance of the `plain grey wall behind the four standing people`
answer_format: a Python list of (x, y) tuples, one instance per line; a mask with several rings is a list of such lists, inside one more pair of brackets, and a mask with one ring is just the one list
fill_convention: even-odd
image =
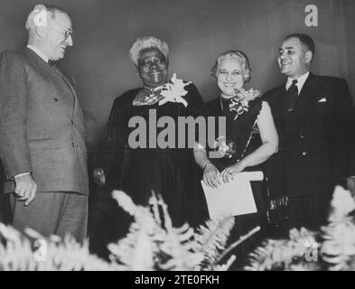
[[(192, 80), (205, 101), (218, 97), (210, 68), (222, 51), (245, 51), (253, 79), (266, 91), (283, 81), (276, 65), (288, 33), (309, 33), (317, 43), (313, 72), (341, 76), (355, 95), (354, 0), (0, 0), (0, 51), (26, 43), (24, 23), (36, 4), (60, 5), (72, 16), (74, 46), (60, 66), (79, 83), (87, 111), (88, 143), (103, 135), (114, 98), (141, 86), (128, 51), (139, 36), (169, 43), (170, 73)], [(319, 8), (319, 26), (306, 27), (304, 7)]]

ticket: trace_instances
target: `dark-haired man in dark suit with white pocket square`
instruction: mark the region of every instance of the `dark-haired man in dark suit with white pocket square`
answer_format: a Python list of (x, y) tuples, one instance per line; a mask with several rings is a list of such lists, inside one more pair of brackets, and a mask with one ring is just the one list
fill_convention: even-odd
[(318, 228), (342, 178), (353, 188), (355, 109), (345, 79), (310, 73), (313, 39), (285, 37), (278, 63), (286, 82), (266, 93), (280, 136), (269, 160), (269, 190), (288, 197), (289, 226)]

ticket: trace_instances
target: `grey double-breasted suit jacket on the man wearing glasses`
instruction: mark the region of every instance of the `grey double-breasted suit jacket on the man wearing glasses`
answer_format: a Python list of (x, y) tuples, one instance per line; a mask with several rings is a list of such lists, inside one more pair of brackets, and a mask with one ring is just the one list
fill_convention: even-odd
[(14, 175), (33, 172), (37, 191), (88, 194), (82, 110), (74, 84), (64, 79), (30, 49), (0, 54), (5, 192), (14, 191)]

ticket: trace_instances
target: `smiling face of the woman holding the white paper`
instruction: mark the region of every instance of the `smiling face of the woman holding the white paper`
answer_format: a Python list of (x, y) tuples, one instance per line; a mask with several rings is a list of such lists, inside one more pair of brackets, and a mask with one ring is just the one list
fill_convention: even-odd
[(238, 58), (224, 58), (220, 61), (217, 83), (223, 98), (232, 98), (236, 95), (235, 89), (243, 88), (243, 70)]

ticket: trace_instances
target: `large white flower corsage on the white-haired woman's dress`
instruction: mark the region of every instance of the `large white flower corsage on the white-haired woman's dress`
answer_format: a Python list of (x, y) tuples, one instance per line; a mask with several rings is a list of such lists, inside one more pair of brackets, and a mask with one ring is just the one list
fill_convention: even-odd
[(187, 90), (184, 88), (191, 83), (191, 81), (183, 82), (182, 79), (177, 79), (176, 73), (174, 73), (171, 82), (167, 83), (160, 93), (163, 99), (159, 101), (159, 106), (167, 102), (179, 102), (187, 107), (188, 103), (182, 97), (187, 94)]

